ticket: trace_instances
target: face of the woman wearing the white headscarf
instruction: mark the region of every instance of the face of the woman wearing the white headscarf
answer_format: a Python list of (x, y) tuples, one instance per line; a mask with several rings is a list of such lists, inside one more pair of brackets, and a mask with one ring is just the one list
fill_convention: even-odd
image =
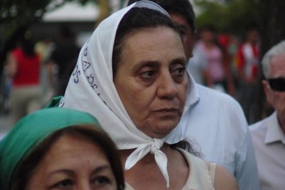
[(165, 137), (180, 120), (188, 88), (181, 38), (167, 27), (142, 29), (125, 36), (121, 49), (119, 97), (139, 130)]

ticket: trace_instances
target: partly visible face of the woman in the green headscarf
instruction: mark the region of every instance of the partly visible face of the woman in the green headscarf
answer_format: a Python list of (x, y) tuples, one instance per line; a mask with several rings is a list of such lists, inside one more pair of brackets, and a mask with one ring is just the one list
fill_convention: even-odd
[(108, 159), (98, 145), (64, 135), (52, 144), (35, 168), (27, 189), (117, 189), (117, 186)]

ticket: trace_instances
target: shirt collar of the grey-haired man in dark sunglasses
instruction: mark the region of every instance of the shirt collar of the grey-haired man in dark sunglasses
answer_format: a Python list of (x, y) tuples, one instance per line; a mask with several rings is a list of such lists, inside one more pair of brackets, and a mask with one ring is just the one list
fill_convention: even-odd
[(277, 141), (281, 141), (283, 144), (285, 144), (285, 134), (281, 130), (281, 127), (277, 119), (277, 112), (275, 111), (270, 116), (264, 143), (269, 144)]

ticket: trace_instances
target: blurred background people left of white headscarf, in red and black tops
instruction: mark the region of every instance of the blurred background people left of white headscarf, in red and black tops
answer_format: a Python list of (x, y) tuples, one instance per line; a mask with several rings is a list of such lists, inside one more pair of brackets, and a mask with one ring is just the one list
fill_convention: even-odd
[(62, 26), (58, 36), (34, 41), (28, 31), (9, 52), (4, 69), (5, 105), (12, 124), (64, 95), (79, 54), (76, 35)]

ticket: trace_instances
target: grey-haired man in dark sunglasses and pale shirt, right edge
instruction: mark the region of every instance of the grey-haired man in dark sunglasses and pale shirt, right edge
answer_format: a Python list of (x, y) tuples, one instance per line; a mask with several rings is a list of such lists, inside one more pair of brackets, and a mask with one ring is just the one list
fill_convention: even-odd
[(261, 61), (267, 101), (274, 113), (252, 125), (260, 189), (285, 187), (285, 40), (272, 47)]

